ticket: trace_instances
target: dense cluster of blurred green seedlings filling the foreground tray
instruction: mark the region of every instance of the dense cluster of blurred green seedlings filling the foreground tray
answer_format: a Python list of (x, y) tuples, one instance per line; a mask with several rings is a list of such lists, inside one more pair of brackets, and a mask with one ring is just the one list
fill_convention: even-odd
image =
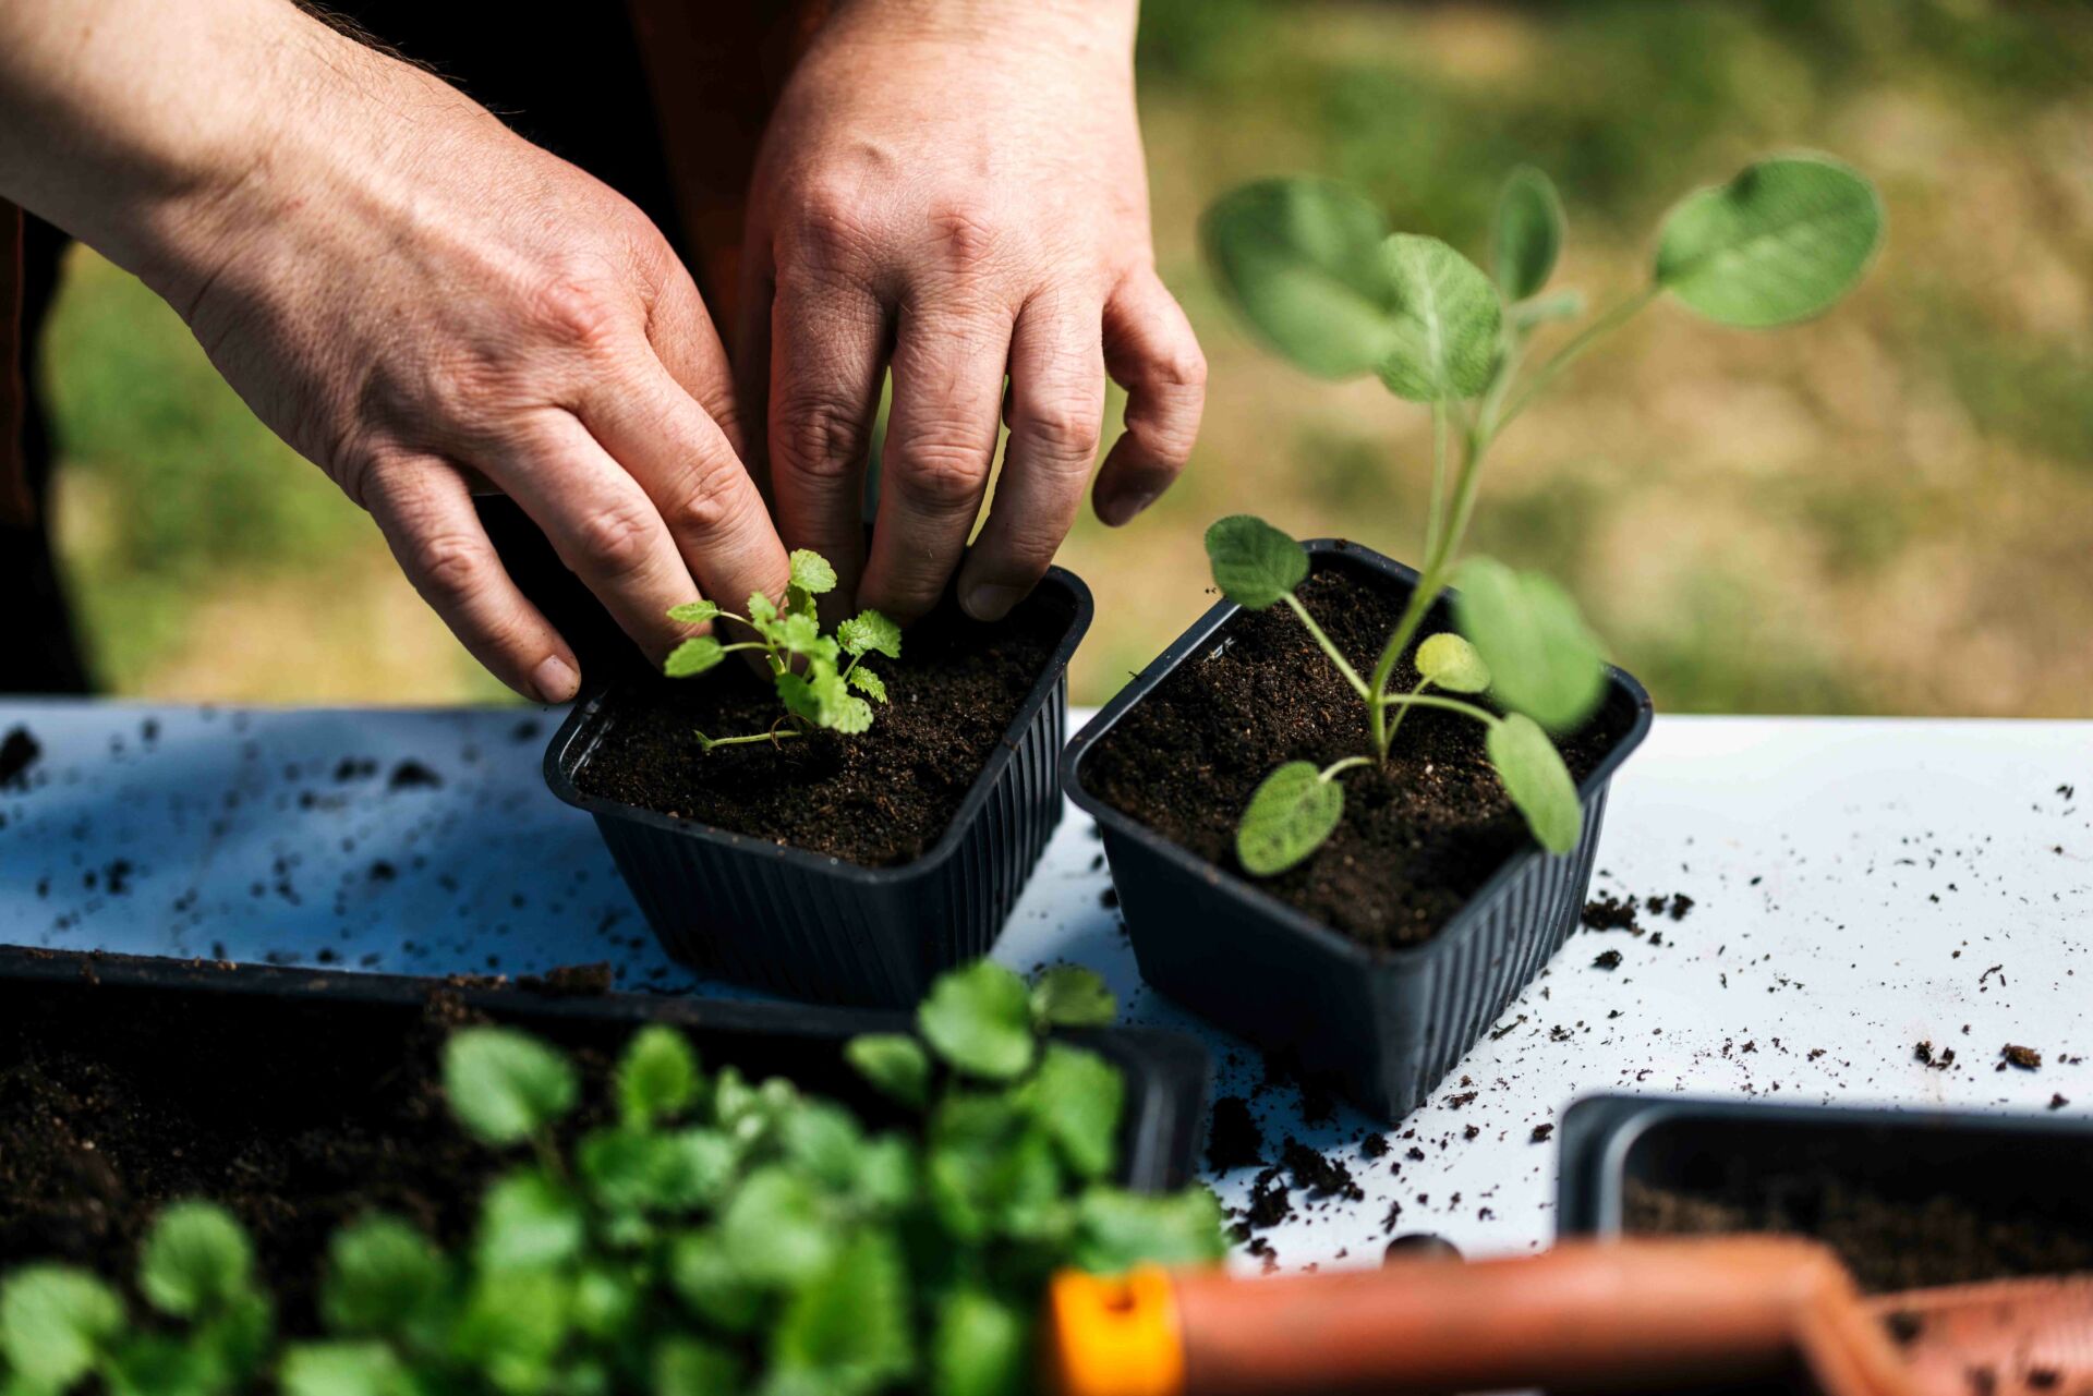
[(467, 1028), (444, 1057), (456, 1122), (515, 1155), (446, 1252), (398, 1216), (335, 1233), (327, 1337), (278, 1342), (241, 1226), (167, 1208), (140, 1308), (54, 1264), (0, 1281), (0, 1392), (216, 1396), (1011, 1396), (1059, 1266), (1116, 1273), (1222, 1254), (1193, 1187), (1107, 1183), (1124, 1082), (1051, 1028), (1111, 1021), (1097, 975), (944, 975), (921, 1036), (860, 1036), (848, 1061), (915, 1122), (869, 1130), (791, 1082), (701, 1069), (643, 1028), (586, 1130), (559, 1051)]

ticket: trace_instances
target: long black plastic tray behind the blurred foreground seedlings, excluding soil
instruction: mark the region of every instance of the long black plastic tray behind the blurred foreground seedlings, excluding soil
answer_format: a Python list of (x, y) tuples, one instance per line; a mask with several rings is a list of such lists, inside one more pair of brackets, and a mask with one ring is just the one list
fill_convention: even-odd
[[(40, 1034), (77, 1032), (82, 1059), (98, 1042), (88, 1007), (165, 1013), (170, 1000), (199, 1023), (165, 1044), (165, 1099), (174, 1118), (209, 1130), (218, 1109), (341, 1111), (373, 1093), (400, 1065), (400, 1042), (421, 1021), (431, 992), (454, 992), (465, 1007), (567, 1046), (617, 1049), (640, 1023), (674, 1023), (707, 1069), (733, 1063), (749, 1076), (785, 1076), (837, 1099), (864, 1120), (890, 1124), (894, 1107), (841, 1059), (860, 1032), (906, 1032), (900, 1013), (783, 1003), (733, 1003), (657, 994), (561, 996), (519, 988), (404, 975), (320, 973), (270, 965), (224, 965), (128, 954), (77, 954), (0, 946), (0, 1021), (21, 1021), (33, 1003)], [(207, 1028), (203, 1028), (207, 1023)], [(1109, 1059), (1126, 1076), (1120, 1126), (1120, 1183), (1166, 1191), (1191, 1180), (1206, 1134), (1212, 1063), (1178, 1032), (1095, 1028), (1061, 1034)], [(4, 1040), (4, 1034), (0, 1034)], [(40, 1036), (40, 1044), (48, 1036)], [(333, 1082), (299, 1082), (295, 1099), (257, 1095), (253, 1063), (272, 1040), (327, 1042)], [(329, 1099), (320, 1099), (320, 1095)], [(412, 1141), (404, 1141), (406, 1147)]]

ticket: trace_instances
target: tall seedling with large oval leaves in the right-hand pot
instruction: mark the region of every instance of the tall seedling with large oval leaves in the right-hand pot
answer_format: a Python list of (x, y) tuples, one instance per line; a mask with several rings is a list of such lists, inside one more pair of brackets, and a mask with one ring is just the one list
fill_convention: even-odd
[[(1766, 329), (1821, 314), (1850, 291), (1882, 243), (1882, 201), (1848, 165), (1785, 155), (1687, 195), (1664, 218), (1649, 280), (1593, 316), (1538, 364), (1532, 335), (1582, 316), (1549, 293), (1563, 243), (1555, 186), (1520, 170), (1499, 197), (1492, 272), (1446, 243), (1390, 232), (1365, 197), (1325, 180), (1266, 180), (1222, 197), (1203, 220), (1216, 276), (1256, 333), (1327, 379), (1377, 375), (1432, 410), (1432, 494), (1423, 565), (1371, 672), (1360, 674), (1296, 594), (1298, 542), (1235, 515), (1206, 534), (1214, 584), (1247, 609), (1285, 603), (1360, 697), (1367, 751), (1329, 766), (1287, 762), (1250, 797), (1237, 829), (1245, 871), (1266, 877), (1314, 854), (1344, 816), (1348, 770), (1386, 766), (1413, 707), (1484, 724), (1484, 749), (1534, 837), (1553, 854), (1582, 829), (1576, 787), (1549, 733), (1584, 722), (1605, 695), (1597, 638), (1566, 590), (1490, 559), (1461, 559), (1482, 463), (1503, 431), (1593, 345), (1670, 295), (1718, 324)], [(1461, 634), (1417, 645), (1419, 682), (1392, 686), (1434, 603), (1459, 588)], [(1459, 697), (1457, 697), (1459, 695)], [(1488, 705), (1473, 701), (1488, 695)]]

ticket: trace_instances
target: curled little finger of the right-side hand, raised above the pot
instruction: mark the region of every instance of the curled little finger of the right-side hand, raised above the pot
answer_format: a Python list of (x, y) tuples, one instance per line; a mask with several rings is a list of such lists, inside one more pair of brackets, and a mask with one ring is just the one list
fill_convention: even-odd
[(1134, 272), (1105, 301), (1105, 366), (1126, 389), (1126, 433), (1097, 471), (1095, 506), (1118, 527), (1185, 469), (1206, 408), (1206, 356), (1155, 272)]

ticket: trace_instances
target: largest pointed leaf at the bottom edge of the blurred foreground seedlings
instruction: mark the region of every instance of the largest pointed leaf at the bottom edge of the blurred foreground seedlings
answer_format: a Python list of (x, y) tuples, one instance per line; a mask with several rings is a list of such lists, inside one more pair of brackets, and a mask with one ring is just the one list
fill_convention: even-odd
[(779, 1371), (823, 1377), (829, 1392), (875, 1392), (915, 1367), (908, 1270), (883, 1231), (860, 1231), (800, 1287), (770, 1333)]

